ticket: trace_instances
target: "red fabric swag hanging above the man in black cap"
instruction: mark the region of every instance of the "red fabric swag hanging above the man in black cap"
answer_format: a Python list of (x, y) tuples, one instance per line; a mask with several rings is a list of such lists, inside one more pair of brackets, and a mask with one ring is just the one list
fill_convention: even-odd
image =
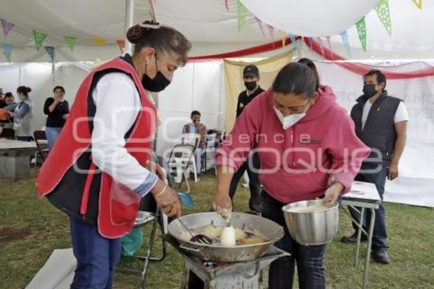
[[(291, 44), (291, 38), (285, 39), (285, 46)], [(224, 59), (224, 58), (232, 58), (232, 57), (243, 57), (247, 55), (252, 54), (258, 54), (268, 51), (273, 51), (282, 48), (282, 40), (249, 47), (242, 50), (237, 50), (233, 52), (228, 53), (221, 53), (221, 54), (213, 54), (213, 55), (206, 55), (206, 56), (194, 56), (194, 57), (188, 57), (188, 61), (201, 61), (201, 60), (212, 60), (212, 59)]]

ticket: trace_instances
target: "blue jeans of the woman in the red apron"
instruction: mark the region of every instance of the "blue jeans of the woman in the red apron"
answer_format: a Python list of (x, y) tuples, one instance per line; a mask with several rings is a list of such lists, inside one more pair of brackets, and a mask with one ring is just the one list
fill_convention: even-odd
[(100, 235), (97, 226), (69, 217), (77, 269), (71, 289), (110, 289), (120, 258), (120, 239)]

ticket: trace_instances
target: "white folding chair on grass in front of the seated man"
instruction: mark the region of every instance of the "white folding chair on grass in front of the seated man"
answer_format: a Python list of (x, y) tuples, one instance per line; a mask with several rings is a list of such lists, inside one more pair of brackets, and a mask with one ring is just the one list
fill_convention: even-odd
[[(179, 186), (181, 187), (183, 176), (188, 184), (187, 169), (190, 163), (194, 166), (194, 171), (196, 172), (196, 163), (191, 159), (194, 159), (195, 147), (191, 144), (176, 144), (167, 158), (167, 166), (170, 168), (171, 174), (174, 175), (175, 181), (179, 181)], [(196, 179), (197, 181), (197, 179)]]

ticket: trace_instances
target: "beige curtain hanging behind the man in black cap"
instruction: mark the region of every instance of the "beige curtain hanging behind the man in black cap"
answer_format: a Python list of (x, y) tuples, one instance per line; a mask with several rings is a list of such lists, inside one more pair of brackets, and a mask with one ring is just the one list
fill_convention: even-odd
[(225, 64), (225, 86), (226, 86), (226, 131), (232, 130), (235, 123), (236, 104), (238, 94), (246, 89), (243, 80), (243, 69), (248, 64), (254, 64), (259, 68), (259, 85), (268, 89), (280, 68), (291, 62), (292, 51), (288, 51), (267, 59), (256, 62), (243, 62), (224, 60)]

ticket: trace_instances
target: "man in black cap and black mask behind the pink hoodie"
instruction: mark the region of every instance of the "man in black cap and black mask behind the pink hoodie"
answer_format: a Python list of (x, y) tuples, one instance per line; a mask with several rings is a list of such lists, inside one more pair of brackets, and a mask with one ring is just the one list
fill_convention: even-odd
[[(256, 65), (250, 64), (244, 67), (243, 79), (246, 90), (239, 93), (238, 95), (238, 103), (236, 105), (236, 117), (238, 117), (243, 112), (243, 109), (246, 107), (246, 105), (248, 105), (257, 95), (264, 91), (258, 84), (260, 77), (259, 69)], [(242, 166), (238, 168), (238, 171), (236, 171), (236, 173), (232, 177), (229, 189), (229, 196), (231, 197), (231, 199), (233, 199), (238, 182), (243, 177), (244, 172), (247, 170), (247, 174), (249, 175), (250, 187), (250, 212), (254, 214), (259, 214), (261, 209), (261, 184), (259, 182), (258, 176), (258, 171), (260, 167), (259, 156), (257, 153), (253, 153), (249, 156), (249, 158), (252, 158), (252, 160), (250, 161), (252, 167), (249, 167), (249, 160), (247, 160)]]

